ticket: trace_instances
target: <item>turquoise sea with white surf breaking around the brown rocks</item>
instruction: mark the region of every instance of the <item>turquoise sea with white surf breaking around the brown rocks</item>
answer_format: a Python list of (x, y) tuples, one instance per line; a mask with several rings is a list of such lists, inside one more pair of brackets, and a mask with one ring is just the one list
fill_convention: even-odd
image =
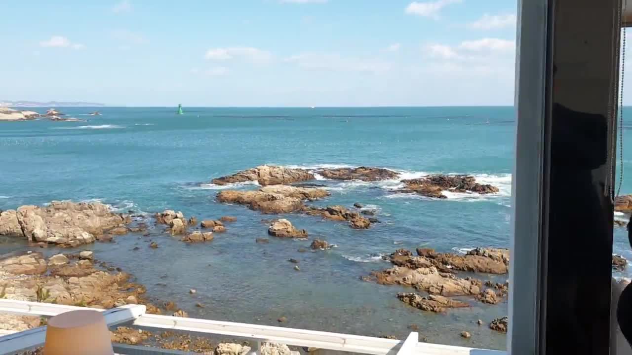
[[(397, 248), (465, 252), (509, 246), (513, 107), (185, 108), (183, 116), (172, 107), (60, 110), (88, 121), (0, 123), (0, 209), (99, 200), (121, 212), (173, 209), (198, 220), (238, 218), (211, 243), (185, 244), (156, 227), (149, 238), (128, 234), (116, 243), (80, 248), (135, 275), (148, 296), (176, 301), (194, 317), (278, 325), (277, 318), (285, 316), (284, 327), (401, 339), (415, 324), (430, 342), (505, 349), (506, 335), (487, 324), (507, 314), (506, 301), (489, 306), (470, 299), (471, 308), (433, 314), (396, 298), (397, 292), (412, 289), (360, 277), (390, 267), (380, 256)], [(95, 110), (103, 116), (85, 115)], [(631, 138), (624, 129), (626, 152), (632, 152)], [(331, 196), (315, 204), (362, 203), (377, 210), (382, 223), (358, 231), (317, 217), (284, 215), (307, 229), (310, 241), (337, 244), (329, 251), (298, 253), (310, 241), (255, 243), (255, 238), (268, 238), (261, 220), (276, 216), (215, 201), (223, 188), (257, 186), (215, 186), (212, 178), (261, 164), (367, 165), (394, 169), (402, 178), (473, 174), (500, 193), (450, 193), (446, 200), (432, 200), (393, 193), (399, 181), (320, 180)], [(632, 173), (629, 155), (624, 165)], [(624, 178), (622, 193), (632, 193), (632, 178)], [(624, 229), (616, 229), (615, 238), (616, 253), (632, 260)], [(147, 248), (149, 240), (160, 248)], [(132, 251), (135, 246), (140, 251)], [(25, 248), (23, 241), (5, 240), (0, 253)], [(300, 260), (300, 272), (289, 258)], [(197, 294), (189, 294), (191, 288)], [(206, 308), (195, 307), (198, 302)], [(478, 319), (485, 325), (478, 327)], [(463, 330), (471, 339), (459, 336)]]

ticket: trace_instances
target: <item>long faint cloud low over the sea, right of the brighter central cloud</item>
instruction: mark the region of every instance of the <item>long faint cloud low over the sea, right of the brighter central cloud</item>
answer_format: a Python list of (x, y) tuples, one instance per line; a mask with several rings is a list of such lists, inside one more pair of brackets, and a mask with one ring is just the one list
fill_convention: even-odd
[(349, 58), (339, 54), (303, 53), (288, 57), (285, 61), (310, 70), (384, 73), (391, 69), (391, 65), (383, 61)]

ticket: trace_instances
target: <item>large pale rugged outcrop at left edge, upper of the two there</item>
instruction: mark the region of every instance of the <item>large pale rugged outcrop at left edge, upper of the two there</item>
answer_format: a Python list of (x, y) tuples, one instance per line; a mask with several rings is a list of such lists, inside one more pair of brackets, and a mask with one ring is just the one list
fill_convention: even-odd
[(130, 217), (112, 212), (99, 202), (51, 202), (25, 205), (0, 214), (0, 235), (23, 236), (33, 243), (62, 246), (89, 244), (111, 229), (125, 227)]

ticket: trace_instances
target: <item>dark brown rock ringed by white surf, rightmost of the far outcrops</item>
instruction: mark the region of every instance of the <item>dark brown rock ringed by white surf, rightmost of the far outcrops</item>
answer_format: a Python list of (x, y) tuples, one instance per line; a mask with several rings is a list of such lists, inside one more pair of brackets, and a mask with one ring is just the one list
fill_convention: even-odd
[(433, 198), (447, 198), (443, 191), (459, 193), (497, 193), (499, 189), (490, 184), (479, 184), (471, 175), (430, 175), (420, 179), (402, 180), (406, 186), (399, 192), (418, 193)]

